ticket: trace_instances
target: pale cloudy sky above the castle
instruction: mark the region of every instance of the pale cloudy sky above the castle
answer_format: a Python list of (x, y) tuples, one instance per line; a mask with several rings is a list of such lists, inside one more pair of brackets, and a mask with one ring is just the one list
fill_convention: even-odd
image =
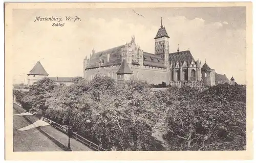
[[(133, 10), (142, 16), (133, 12)], [(62, 17), (63, 27), (36, 16)], [(66, 21), (78, 16), (81, 21)], [(102, 51), (131, 40), (154, 53), (161, 17), (169, 35), (170, 52), (190, 50), (217, 73), (246, 83), (246, 8), (104, 8), (15, 9), (12, 21), (13, 82), (27, 82), (37, 61), (51, 77), (83, 75), (83, 59), (92, 49)]]

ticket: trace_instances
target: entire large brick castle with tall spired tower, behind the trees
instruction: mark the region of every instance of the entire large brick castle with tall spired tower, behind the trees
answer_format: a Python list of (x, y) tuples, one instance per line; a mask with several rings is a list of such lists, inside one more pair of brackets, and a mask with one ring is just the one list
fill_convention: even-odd
[[(217, 74), (206, 61), (203, 66), (195, 60), (189, 50), (169, 52), (169, 36), (162, 24), (156, 34), (155, 53), (143, 51), (135, 42), (135, 36), (129, 43), (108, 50), (95, 52), (83, 61), (83, 77), (92, 80), (97, 74), (109, 76), (115, 80), (139, 79), (149, 84), (180, 85), (182, 82), (202, 82), (208, 86), (224, 83), (233, 84), (223, 75)], [(219, 79), (216, 80), (217, 76)]]

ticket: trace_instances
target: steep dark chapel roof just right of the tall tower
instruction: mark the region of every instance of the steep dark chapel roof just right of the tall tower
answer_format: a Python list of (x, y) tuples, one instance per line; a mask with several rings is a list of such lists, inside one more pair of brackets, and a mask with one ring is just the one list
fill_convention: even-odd
[(195, 61), (189, 50), (169, 53), (169, 62), (184, 62), (189, 65)]

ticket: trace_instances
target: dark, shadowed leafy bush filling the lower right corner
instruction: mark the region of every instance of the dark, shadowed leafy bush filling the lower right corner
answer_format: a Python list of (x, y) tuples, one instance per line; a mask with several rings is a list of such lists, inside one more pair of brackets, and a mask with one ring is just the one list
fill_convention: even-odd
[(220, 85), (200, 92), (175, 92), (180, 100), (168, 109), (164, 128), (169, 150), (243, 150), (246, 90)]

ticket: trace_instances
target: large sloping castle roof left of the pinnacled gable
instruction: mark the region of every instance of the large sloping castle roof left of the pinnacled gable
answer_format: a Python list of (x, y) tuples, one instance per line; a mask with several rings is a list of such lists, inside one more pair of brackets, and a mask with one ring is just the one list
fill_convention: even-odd
[[(121, 48), (125, 45), (117, 46), (108, 50), (96, 52), (89, 60), (89, 65), (86, 69), (97, 67), (116, 66), (121, 64)], [(110, 54), (109, 62), (106, 62), (107, 55)], [(100, 61), (102, 65), (100, 66)]]

